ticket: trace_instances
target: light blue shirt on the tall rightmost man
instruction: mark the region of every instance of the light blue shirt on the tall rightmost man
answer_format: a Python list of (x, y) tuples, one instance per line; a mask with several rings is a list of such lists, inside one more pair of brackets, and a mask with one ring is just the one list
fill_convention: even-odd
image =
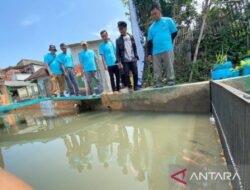
[(153, 41), (153, 55), (174, 49), (172, 33), (177, 32), (176, 24), (169, 17), (154, 21), (148, 30), (148, 41)]

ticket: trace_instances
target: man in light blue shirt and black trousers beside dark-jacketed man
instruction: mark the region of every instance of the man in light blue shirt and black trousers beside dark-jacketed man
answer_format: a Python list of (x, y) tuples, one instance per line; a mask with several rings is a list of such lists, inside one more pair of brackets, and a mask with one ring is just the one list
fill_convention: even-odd
[[(116, 49), (114, 44), (109, 40), (106, 30), (100, 32), (103, 40), (99, 45), (99, 53), (102, 56), (102, 63), (105, 70), (108, 70), (111, 87), (113, 92), (120, 91), (120, 72), (116, 61)], [(115, 76), (115, 78), (114, 78)]]

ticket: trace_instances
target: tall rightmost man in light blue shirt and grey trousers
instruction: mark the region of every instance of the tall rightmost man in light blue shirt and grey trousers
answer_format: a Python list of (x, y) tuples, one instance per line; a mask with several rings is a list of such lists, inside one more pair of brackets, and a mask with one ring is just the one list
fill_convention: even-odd
[(172, 18), (162, 17), (160, 6), (157, 3), (151, 8), (151, 16), (154, 22), (148, 30), (148, 60), (153, 61), (155, 86), (157, 88), (163, 86), (163, 69), (167, 70), (168, 86), (173, 86), (173, 40), (177, 35), (177, 27)]

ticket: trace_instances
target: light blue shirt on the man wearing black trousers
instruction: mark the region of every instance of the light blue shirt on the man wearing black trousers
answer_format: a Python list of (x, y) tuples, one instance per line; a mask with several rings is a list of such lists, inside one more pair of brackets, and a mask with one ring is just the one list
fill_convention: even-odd
[(115, 46), (111, 41), (102, 42), (99, 45), (99, 53), (105, 58), (106, 65), (108, 67), (114, 66), (116, 64), (115, 56)]

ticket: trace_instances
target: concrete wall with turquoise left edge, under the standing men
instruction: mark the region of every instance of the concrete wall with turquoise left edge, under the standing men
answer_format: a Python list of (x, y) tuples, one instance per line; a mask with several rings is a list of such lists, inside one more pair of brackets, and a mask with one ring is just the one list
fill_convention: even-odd
[[(218, 80), (243, 92), (250, 92), (250, 76)], [(160, 89), (146, 88), (136, 92), (105, 94), (102, 96), (79, 96), (44, 98), (0, 107), (0, 112), (13, 109), (46, 108), (46, 102), (56, 109), (164, 111), (177, 113), (209, 113), (210, 81), (187, 83)]]

